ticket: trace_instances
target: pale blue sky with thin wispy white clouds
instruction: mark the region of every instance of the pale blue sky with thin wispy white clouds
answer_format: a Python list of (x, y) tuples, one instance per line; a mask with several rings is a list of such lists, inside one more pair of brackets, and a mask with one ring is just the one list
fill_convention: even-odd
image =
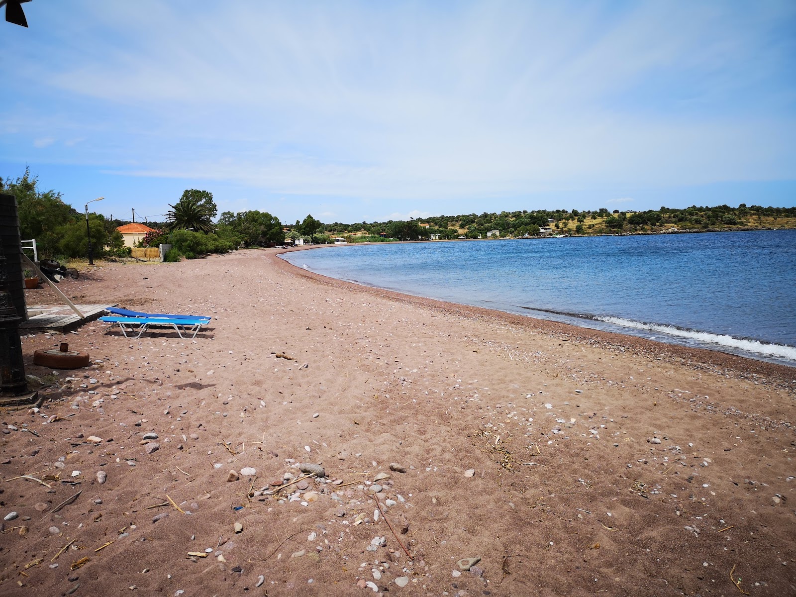
[(796, 3), (33, 0), (0, 176), (164, 220), (796, 205)]

